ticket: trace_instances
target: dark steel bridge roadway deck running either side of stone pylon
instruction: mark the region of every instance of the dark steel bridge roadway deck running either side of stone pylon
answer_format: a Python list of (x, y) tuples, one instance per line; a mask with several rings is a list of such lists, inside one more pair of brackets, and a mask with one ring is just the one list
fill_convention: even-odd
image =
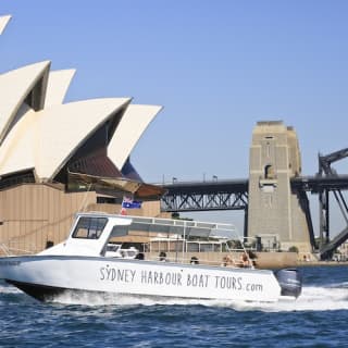
[[(162, 211), (246, 210), (248, 179), (182, 182), (162, 185)], [(297, 191), (319, 194), (323, 190), (347, 190), (348, 175), (299, 176), (291, 179)]]

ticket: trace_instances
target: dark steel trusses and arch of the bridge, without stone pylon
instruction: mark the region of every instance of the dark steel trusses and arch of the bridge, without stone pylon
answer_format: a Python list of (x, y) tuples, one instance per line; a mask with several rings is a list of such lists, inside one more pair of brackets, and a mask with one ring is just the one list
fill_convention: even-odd
[[(309, 234), (314, 246), (314, 232), (308, 194), (319, 199), (319, 245), (316, 252), (322, 259), (330, 258), (333, 251), (348, 239), (348, 204), (343, 195), (348, 189), (348, 175), (338, 174), (332, 164), (348, 157), (348, 148), (323, 156), (319, 154), (319, 171), (313, 176), (290, 178), (290, 188), (298, 192), (300, 204), (306, 213)], [(248, 231), (249, 179), (228, 179), (203, 182), (177, 182), (164, 185), (166, 194), (162, 197), (162, 210), (166, 212), (192, 212), (214, 210), (244, 210), (245, 236)], [(345, 221), (343, 231), (334, 231), (331, 239), (331, 202), (335, 201)], [(335, 204), (335, 209), (337, 209)]]

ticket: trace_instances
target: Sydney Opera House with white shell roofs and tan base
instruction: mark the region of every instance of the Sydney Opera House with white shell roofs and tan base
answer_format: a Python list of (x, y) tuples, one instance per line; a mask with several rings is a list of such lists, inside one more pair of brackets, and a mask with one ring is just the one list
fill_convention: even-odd
[[(10, 16), (0, 16), (0, 40)], [(77, 211), (158, 215), (161, 188), (142, 182), (129, 154), (161, 107), (132, 98), (64, 103), (74, 70), (50, 61), (0, 74), (0, 245), (38, 251), (62, 240)], [(1, 250), (0, 250), (1, 253)]]

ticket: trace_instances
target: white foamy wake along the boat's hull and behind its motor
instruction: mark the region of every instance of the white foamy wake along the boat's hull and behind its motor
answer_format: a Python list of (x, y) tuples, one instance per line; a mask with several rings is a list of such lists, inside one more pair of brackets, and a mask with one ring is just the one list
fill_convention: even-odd
[(231, 300), (199, 300), (199, 299), (175, 299), (164, 297), (144, 297), (132, 295), (90, 293), (65, 293), (57, 296), (53, 302), (64, 304), (82, 306), (206, 306), (223, 307), (237, 311), (263, 311), (263, 312), (294, 312), (294, 311), (333, 311), (348, 309), (348, 288), (337, 285), (336, 287), (307, 286), (302, 288), (301, 296), (295, 300), (293, 298), (282, 298), (278, 302), (245, 302)]

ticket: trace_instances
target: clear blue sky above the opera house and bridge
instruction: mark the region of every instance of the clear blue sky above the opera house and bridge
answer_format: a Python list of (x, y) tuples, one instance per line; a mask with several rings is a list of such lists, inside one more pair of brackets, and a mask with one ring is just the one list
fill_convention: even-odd
[(296, 128), (313, 175), (318, 151), (348, 147), (347, 13), (338, 0), (2, 0), (0, 71), (49, 59), (77, 69), (67, 101), (163, 105), (132, 156), (147, 182), (247, 177), (260, 120)]

